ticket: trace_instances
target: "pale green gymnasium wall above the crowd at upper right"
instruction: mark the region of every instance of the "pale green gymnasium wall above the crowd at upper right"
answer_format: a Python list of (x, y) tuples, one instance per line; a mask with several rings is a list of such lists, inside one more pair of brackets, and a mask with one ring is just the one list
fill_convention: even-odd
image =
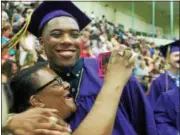
[[(105, 15), (114, 24), (123, 24), (125, 28), (132, 27), (131, 2), (74, 2), (88, 15), (94, 11), (95, 16)], [(163, 4), (163, 2), (162, 2)], [(175, 3), (177, 4), (177, 3)], [(156, 28), (170, 36), (170, 18), (156, 8)], [(144, 2), (134, 2), (134, 28), (140, 32), (152, 33), (152, 6)], [(174, 36), (179, 38), (179, 19), (174, 21)]]

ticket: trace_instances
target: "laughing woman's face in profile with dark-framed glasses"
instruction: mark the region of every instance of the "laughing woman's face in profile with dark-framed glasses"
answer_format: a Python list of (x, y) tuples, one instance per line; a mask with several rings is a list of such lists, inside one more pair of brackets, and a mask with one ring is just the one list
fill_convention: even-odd
[(57, 109), (58, 115), (66, 119), (74, 111), (76, 105), (70, 95), (70, 85), (62, 81), (51, 69), (44, 67), (32, 74), (33, 84), (40, 92), (32, 95), (30, 103), (32, 106)]

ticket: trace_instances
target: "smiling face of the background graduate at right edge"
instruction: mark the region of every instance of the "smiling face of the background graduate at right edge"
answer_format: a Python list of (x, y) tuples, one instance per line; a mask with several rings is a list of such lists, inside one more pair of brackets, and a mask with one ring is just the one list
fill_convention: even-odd
[(180, 52), (173, 52), (170, 54), (169, 63), (173, 68), (180, 68)]

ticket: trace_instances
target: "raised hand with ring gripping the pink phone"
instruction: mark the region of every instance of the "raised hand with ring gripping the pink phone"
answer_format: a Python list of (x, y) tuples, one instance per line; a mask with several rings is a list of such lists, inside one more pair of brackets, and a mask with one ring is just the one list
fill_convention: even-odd
[(109, 83), (126, 83), (135, 66), (137, 55), (124, 45), (116, 48), (108, 63), (105, 80)]

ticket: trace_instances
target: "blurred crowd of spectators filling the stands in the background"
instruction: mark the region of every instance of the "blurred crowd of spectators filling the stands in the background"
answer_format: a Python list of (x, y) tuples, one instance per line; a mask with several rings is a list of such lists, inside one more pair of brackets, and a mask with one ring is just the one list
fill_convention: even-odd
[[(16, 72), (33, 65), (38, 61), (47, 60), (44, 50), (38, 39), (28, 33), (26, 39), (21, 39), (19, 44), (8, 50), (6, 43), (18, 33), (26, 17), (33, 12), (37, 3), (25, 6), (22, 3), (14, 5), (13, 2), (2, 2), (2, 82), (6, 82)], [(82, 35), (81, 57), (96, 58), (99, 54), (111, 52), (124, 44), (138, 54), (134, 75), (148, 93), (151, 81), (164, 72), (165, 60), (154, 42), (139, 38), (129, 30), (121, 29), (108, 21), (105, 15), (90, 15), (92, 22), (86, 27)]]

